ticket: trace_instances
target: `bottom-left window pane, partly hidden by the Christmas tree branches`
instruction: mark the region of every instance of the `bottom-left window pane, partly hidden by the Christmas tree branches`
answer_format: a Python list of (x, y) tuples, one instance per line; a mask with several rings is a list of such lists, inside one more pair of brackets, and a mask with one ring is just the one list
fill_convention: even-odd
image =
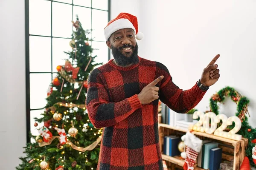
[(44, 122), (41, 122), (41, 123), (38, 123), (38, 126), (35, 127), (34, 124), (35, 124), (35, 117), (36, 118), (42, 118), (43, 116), (41, 115), (41, 113), (44, 113), (44, 109), (42, 110), (36, 110), (36, 111), (30, 111), (30, 131), (32, 133), (32, 135), (35, 135), (35, 136), (38, 136), (39, 133), (38, 133), (38, 129), (40, 127), (42, 127), (44, 125)]

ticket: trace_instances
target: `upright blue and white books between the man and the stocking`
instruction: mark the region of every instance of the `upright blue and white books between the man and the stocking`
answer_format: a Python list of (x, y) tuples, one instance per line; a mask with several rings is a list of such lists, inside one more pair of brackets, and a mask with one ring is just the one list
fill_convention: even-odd
[(178, 150), (178, 144), (180, 142), (180, 137), (175, 135), (164, 136), (163, 139), (163, 154), (168, 156), (180, 155)]

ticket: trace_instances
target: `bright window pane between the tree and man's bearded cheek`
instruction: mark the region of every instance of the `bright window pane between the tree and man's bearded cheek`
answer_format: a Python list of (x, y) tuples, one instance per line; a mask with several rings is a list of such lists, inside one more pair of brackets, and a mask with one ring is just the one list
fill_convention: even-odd
[(93, 56), (97, 55), (94, 59), (95, 63), (103, 62), (103, 64), (108, 62), (108, 46), (106, 42), (92, 42), (92, 48), (96, 48), (98, 50), (93, 50)]

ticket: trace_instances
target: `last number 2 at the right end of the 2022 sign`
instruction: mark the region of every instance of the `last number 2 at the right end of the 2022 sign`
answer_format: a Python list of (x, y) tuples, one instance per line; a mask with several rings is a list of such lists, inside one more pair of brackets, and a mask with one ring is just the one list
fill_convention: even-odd
[(232, 125), (235, 122), (235, 127), (228, 132), (227, 138), (241, 140), (242, 136), (236, 134), (241, 128), (241, 120), (237, 116), (231, 116), (227, 119), (227, 125)]

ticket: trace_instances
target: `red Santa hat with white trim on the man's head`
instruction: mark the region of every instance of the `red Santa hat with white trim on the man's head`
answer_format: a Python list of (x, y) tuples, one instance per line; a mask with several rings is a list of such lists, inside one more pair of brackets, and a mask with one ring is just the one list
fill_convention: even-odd
[(117, 17), (111, 20), (108, 25), (104, 28), (104, 34), (106, 41), (115, 31), (123, 28), (132, 28), (136, 35), (137, 40), (143, 39), (143, 33), (138, 31), (138, 20), (137, 17), (128, 13), (120, 13)]

